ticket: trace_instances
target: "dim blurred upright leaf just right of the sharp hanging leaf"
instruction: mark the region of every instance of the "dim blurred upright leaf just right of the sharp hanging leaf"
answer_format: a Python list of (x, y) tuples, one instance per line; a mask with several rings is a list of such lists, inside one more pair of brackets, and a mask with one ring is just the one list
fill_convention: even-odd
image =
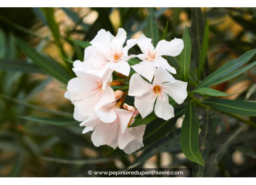
[(199, 151), (202, 154), (204, 166), (193, 163), (192, 164), (192, 176), (204, 177), (204, 171), (207, 168), (207, 160), (213, 136), (213, 120), (209, 115), (209, 109), (206, 110), (206, 114), (203, 119), (203, 128), (199, 134)]

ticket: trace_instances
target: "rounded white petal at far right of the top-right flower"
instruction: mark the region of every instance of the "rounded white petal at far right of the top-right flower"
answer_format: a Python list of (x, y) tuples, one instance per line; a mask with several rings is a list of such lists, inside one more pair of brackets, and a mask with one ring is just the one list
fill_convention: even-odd
[(180, 38), (175, 38), (170, 42), (166, 40), (159, 41), (155, 50), (157, 51), (157, 55), (160, 55), (160, 56), (167, 55), (167, 56), (176, 57), (181, 53), (183, 48), (184, 48), (183, 40)]

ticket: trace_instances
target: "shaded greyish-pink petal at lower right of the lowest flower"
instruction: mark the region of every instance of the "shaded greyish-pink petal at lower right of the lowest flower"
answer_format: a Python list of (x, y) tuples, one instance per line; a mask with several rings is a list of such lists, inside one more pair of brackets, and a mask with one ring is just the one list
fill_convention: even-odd
[(138, 127), (134, 127), (132, 131), (130, 132), (133, 137), (135, 138), (130, 143), (127, 144), (127, 146), (124, 148), (124, 152), (127, 154), (131, 154), (135, 152), (136, 150), (140, 149), (141, 147), (144, 147), (143, 144), (143, 135), (146, 129), (146, 125), (141, 125)]

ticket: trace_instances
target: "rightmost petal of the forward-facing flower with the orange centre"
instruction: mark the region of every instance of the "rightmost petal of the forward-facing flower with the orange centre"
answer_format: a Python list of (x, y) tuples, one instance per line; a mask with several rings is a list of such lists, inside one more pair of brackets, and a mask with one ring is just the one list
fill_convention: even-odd
[(184, 100), (187, 98), (187, 85), (188, 82), (183, 82), (179, 80), (164, 83), (164, 86), (168, 87), (167, 94), (171, 96), (178, 104), (183, 103)]

